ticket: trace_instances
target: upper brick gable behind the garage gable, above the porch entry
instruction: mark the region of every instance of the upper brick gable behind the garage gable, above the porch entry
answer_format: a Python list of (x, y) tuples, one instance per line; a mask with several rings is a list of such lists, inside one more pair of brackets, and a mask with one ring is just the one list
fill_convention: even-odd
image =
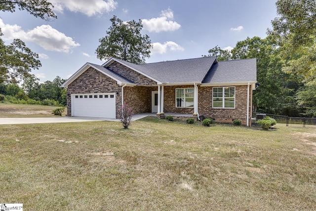
[(118, 63), (113, 62), (110, 64), (108, 69), (112, 70), (113, 72), (117, 73), (118, 75), (121, 75), (125, 79), (128, 79), (129, 81), (138, 84), (138, 85), (157, 85), (156, 82), (153, 80), (143, 76), (142, 74), (137, 73), (136, 71), (129, 69), (128, 67)]

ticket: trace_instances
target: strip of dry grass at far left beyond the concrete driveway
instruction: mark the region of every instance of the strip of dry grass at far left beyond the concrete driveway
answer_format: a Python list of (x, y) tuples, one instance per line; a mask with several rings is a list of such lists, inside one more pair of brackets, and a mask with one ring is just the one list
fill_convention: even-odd
[[(0, 118), (59, 117), (51, 113), (56, 108), (58, 107), (0, 102)], [(63, 113), (63, 116), (65, 115), (66, 115), (66, 109)]]

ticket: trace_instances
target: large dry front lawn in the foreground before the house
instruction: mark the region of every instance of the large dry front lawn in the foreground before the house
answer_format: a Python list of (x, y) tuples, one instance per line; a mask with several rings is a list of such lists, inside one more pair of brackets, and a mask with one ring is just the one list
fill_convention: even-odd
[(315, 210), (316, 128), (0, 126), (0, 187), (25, 210)]

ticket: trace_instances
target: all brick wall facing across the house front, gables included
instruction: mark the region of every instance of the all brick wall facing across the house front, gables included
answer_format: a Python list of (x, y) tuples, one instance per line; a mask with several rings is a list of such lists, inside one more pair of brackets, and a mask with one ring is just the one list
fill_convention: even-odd
[[(136, 84), (147, 86), (124, 87), (124, 102), (133, 108), (135, 114), (152, 112), (152, 91), (157, 91), (157, 83), (114, 62), (109, 69), (122, 75)], [(152, 86), (148, 86), (152, 85)], [(216, 122), (232, 123), (234, 119), (240, 119), (246, 125), (247, 112), (247, 85), (235, 86), (236, 108), (235, 109), (213, 109), (212, 87), (198, 86), (198, 113), (200, 116), (215, 119)], [(164, 113), (193, 114), (194, 108), (176, 108), (175, 89), (194, 88), (194, 85), (164, 86)], [(251, 89), (251, 88), (250, 88)], [(99, 71), (89, 68), (82, 73), (67, 88), (67, 115), (71, 116), (71, 94), (78, 93), (108, 93), (116, 94), (116, 117), (121, 106), (121, 86), (117, 82)], [(250, 90), (249, 101), (249, 125), (251, 124), (252, 90)]]

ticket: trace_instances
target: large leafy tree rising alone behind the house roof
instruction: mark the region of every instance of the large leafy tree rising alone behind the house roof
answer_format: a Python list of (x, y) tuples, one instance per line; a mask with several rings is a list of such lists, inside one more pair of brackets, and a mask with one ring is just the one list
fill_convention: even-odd
[(107, 36), (99, 39), (96, 49), (97, 58), (110, 59), (117, 57), (135, 64), (145, 63), (150, 57), (152, 48), (148, 35), (141, 35), (142, 21), (122, 21), (115, 15), (110, 19), (112, 26), (106, 32)]

